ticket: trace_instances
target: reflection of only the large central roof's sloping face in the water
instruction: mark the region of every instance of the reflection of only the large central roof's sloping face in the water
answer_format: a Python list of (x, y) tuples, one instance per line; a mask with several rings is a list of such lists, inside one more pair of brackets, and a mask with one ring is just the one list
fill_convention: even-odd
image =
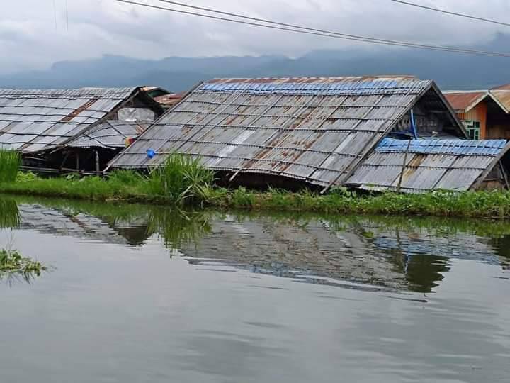
[(363, 235), (355, 230), (331, 233), (319, 221), (299, 226), (271, 217), (217, 220), (212, 233), (184, 253), (283, 277), (310, 274), (395, 288), (404, 284), (402, 274), (370, 251)]

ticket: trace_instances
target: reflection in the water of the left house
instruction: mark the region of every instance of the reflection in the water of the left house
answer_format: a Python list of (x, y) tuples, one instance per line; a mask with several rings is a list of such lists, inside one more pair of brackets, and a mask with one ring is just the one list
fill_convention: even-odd
[(147, 221), (123, 223), (89, 214), (71, 215), (40, 205), (18, 206), (21, 228), (43, 234), (63, 235), (102, 243), (140, 245), (149, 237)]

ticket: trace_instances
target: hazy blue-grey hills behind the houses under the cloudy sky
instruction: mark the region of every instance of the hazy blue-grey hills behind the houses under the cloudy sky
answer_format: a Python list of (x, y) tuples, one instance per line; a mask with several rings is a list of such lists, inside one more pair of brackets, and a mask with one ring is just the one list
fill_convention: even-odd
[[(470, 47), (510, 53), (510, 35)], [(98, 59), (56, 62), (49, 70), (0, 75), (0, 87), (71, 88), (159, 85), (185, 91), (213, 77), (348, 76), (413, 74), (434, 79), (443, 89), (482, 89), (510, 82), (510, 58), (426, 50), (315, 50), (295, 59), (260, 57), (167, 57), (141, 60), (105, 55)]]

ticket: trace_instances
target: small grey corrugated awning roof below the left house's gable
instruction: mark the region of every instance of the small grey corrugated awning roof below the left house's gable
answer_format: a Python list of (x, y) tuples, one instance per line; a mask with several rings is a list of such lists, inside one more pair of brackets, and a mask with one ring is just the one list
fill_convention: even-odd
[(90, 131), (69, 141), (69, 148), (125, 148), (126, 138), (137, 138), (149, 124), (128, 121), (106, 121), (95, 126)]

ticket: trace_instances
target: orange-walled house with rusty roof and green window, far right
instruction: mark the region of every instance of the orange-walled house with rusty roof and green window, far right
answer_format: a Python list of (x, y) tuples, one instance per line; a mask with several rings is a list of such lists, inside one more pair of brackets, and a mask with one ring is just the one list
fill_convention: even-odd
[(510, 84), (444, 94), (472, 140), (510, 139)]

